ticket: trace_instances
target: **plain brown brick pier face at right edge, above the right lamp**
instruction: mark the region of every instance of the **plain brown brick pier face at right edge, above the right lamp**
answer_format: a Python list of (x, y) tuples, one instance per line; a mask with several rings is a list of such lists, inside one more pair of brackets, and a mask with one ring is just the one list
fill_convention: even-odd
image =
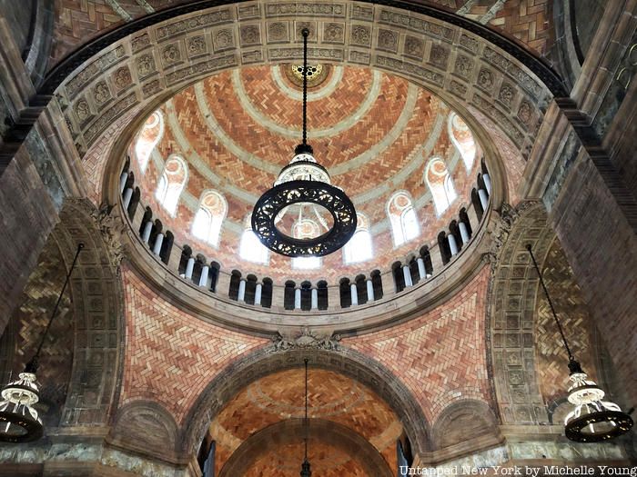
[(634, 396), (637, 236), (590, 159), (572, 167), (551, 211), (551, 223), (617, 366), (624, 391)]

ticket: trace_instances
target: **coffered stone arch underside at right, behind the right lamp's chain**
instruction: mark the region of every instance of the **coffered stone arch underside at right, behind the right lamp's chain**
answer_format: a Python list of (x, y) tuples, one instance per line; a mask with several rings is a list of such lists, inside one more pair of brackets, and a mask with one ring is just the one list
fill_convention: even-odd
[(549, 423), (535, 357), (535, 302), (540, 281), (526, 250), (543, 263), (555, 240), (540, 202), (503, 206), (494, 231), (487, 313), (490, 375), (502, 424)]

